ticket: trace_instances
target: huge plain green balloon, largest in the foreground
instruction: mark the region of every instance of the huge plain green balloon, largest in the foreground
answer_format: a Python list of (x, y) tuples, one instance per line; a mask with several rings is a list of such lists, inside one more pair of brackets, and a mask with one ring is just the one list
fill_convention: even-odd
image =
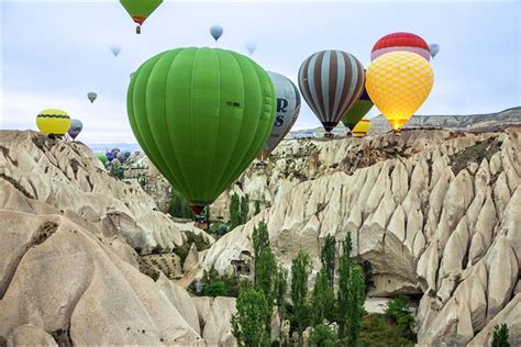
[(196, 214), (253, 161), (274, 121), (267, 72), (239, 53), (176, 48), (146, 60), (126, 109), (137, 142)]

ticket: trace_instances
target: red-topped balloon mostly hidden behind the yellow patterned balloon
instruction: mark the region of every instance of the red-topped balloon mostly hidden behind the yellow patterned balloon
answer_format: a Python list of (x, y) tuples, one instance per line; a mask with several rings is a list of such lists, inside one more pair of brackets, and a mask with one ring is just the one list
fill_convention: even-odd
[(431, 59), (431, 49), (426, 42), (412, 33), (392, 33), (385, 35), (376, 42), (370, 53), (370, 60), (378, 58), (380, 55), (389, 52), (412, 52), (421, 55), (428, 61)]

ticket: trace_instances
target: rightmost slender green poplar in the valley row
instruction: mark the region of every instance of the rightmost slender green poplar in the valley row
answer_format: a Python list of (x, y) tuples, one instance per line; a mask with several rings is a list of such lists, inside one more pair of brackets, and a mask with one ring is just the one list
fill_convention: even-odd
[(365, 278), (362, 269), (355, 264), (351, 264), (350, 277), (350, 295), (347, 296), (347, 331), (350, 343), (352, 345), (356, 345), (362, 327), (362, 317), (365, 313)]

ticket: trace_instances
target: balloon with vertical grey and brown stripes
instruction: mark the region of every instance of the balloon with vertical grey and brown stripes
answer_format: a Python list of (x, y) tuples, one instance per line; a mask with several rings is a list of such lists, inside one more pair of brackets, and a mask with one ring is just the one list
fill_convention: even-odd
[(299, 70), (300, 92), (328, 136), (358, 100), (364, 83), (364, 66), (342, 51), (318, 52), (307, 58)]

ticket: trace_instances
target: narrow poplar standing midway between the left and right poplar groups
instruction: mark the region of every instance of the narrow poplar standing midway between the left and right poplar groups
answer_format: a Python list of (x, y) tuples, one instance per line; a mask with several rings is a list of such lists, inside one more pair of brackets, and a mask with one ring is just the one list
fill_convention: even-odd
[(302, 250), (291, 264), (291, 300), (295, 307), (295, 321), (299, 334), (299, 347), (302, 346), (302, 332), (309, 322), (308, 282), (311, 273), (311, 260)]

